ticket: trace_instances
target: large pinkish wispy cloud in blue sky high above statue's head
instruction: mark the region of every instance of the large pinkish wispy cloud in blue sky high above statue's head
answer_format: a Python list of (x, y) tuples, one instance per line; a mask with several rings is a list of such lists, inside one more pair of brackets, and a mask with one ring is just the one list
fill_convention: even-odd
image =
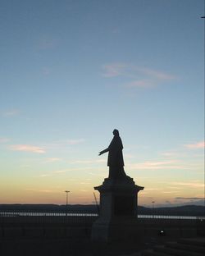
[(103, 66), (103, 76), (107, 78), (124, 77), (128, 79), (126, 87), (150, 88), (162, 81), (175, 79), (174, 75), (142, 66), (125, 63), (111, 63)]

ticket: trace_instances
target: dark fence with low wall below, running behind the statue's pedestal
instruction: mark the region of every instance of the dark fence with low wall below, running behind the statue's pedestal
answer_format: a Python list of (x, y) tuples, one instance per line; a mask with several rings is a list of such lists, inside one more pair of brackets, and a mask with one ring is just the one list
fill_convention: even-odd
[[(57, 210), (4, 210), (0, 209), (0, 240), (7, 237), (89, 237), (98, 212), (78, 209)], [(147, 236), (159, 232), (171, 237), (205, 235), (205, 217), (185, 215), (139, 214), (138, 227)], [(161, 234), (161, 233), (160, 233)]]

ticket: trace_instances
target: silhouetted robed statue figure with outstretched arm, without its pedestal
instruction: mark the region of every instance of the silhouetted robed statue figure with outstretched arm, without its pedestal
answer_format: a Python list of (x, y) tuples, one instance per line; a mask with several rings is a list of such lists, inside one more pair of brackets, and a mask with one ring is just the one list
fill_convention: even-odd
[(107, 149), (99, 153), (99, 156), (108, 152), (107, 166), (109, 167), (110, 179), (121, 179), (127, 177), (124, 171), (124, 160), (122, 155), (123, 145), (118, 130), (113, 130), (113, 139)]

